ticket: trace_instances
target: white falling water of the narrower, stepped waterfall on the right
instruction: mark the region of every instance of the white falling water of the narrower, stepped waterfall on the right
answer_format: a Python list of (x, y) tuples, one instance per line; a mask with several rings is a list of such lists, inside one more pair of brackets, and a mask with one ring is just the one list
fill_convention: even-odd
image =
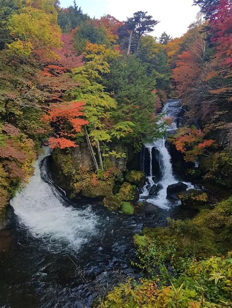
[[(174, 118), (174, 115), (171, 114), (169, 111), (169, 107), (170, 105), (173, 105), (173, 107), (175, 107), (175, 103), (178, 103), (178, 101), (168, 102), (163, 107), (162, 112), (166, 112), (167, 117), (172, 116)], [(168, 127), (167, 132), (171, 132), (175, 129), (177, 129), (177, 124), (174, 119), (173, 123)], [(145, 149), (147, 148), (149, 152), (149, 175), (146, 176), (146, 183), (142, 188), (141, 194), (139, 196), (139, 201), (141, 202), (145, 201), (147, 203), (157, 205), (161, 208), (169, 208), (170, 201), (166, 199), (167, 186), (178, 183), (179, 181), (173, 175), (171, 156), (165, 146), (165, 138), (158, 139), (150, 144), (145, 144), (144, 147)], [(160, 164), (160, 169), (162, 171), (162, 179), (158, 183), (155, 183), (153, 180), (154, 179), (153, 170), (152, 170), (152, 149), (153, 148), (156, 148), (159, 152), (159, 164)], [(183, 182), (183, 183), (188, 185), (188, 189), (193, 188), (193, 185), (191, 185), (190, 183), (186, 183), (186, 182)], [(157, 184), (162, 185), (162, 188), (160, 189), (160, 191), (155, 196), (149, 195), (149, 191), (152, 185), (157, 185)]]

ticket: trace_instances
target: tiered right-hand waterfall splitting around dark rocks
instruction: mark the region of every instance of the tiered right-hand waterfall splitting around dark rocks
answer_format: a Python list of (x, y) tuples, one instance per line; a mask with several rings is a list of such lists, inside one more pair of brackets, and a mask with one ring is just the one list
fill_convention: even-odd
[[(172, 117), (173, 123), (167, 128), (167, 133), (172, 133), (178, 127), (178, 122), (180, 121), (180, 115), (182, 112), (182, 107), (180, 106), (180, 101), (168, 100), (165, 103), (162, 112), (166, 113), (166, 117)], [(147, 202), (154, 205), (157, 205), (161, 208), (169, 208), (173, 203), (178, 204), (179, 202), (171, 202), (167, 200), (167, 187), (179, 182), (179, 179), (173, 174), (171, 156), (165, 146), (165, 138), (158, 139), (153, 143), (145, 144), (144, 150), (142, 152), (143, 158), (141, 161), (143, 165), (141, 166), (144, 172), (144, 159), (145, 151), (148, 150), (149, 153), (149, 174), (146, 175), (145, 185), (142, 188), (142, 191), (139, 196), (140, 202)], [(154, 157), (153, 149), (158, 151), (158, 159)], [(157, 179), (157, 176), (153, 174), (157, 173), (153, 168), (153, 159), (156, 159), (159, 164), (159, 170), (161, 171), (161, 178)], [(190, 183), (183, 182), (188, 185), (188, 188), (193, 188)], [(155, 187), (156, 186), (156, 187)], [(155, 188), (154, 188), (155, 187)], [(154, 192), (155, 191), (155, 192)]]

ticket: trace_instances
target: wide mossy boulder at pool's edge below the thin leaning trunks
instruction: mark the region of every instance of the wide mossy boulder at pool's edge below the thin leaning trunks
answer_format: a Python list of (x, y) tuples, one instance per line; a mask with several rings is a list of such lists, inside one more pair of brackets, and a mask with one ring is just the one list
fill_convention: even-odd
[(87, 185), (82, 190), (82, 195), (88, 198), (103, 198), (112, 195), (113, 186), (113, 182), (97, 181), (97, 185)]

